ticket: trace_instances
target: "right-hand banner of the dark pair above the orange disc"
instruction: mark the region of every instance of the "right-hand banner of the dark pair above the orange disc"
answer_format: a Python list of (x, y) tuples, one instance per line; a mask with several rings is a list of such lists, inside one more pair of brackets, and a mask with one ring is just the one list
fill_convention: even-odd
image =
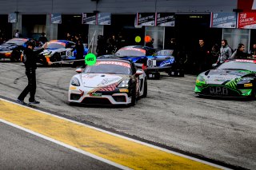
[(175, 14), (174, 13), (158, 13), (157, 26), (174, 26)]

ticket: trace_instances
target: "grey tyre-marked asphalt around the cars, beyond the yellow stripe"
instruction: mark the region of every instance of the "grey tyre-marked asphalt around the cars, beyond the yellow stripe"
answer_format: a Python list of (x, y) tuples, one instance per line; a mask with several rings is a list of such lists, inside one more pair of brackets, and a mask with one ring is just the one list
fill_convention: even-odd
[[(0, 65), (0, 95), (15, 100), (27, 83), (25, 68), (8, 61)], [(37, 107), (226, 164), (256, 168), (256, 101), (195, 97), (196, 77), (186, 75), (149, 80), (148, 97), (134, 107), (70, 106), (67, 90), (74, 74), (70, 67), (39, 67)]]

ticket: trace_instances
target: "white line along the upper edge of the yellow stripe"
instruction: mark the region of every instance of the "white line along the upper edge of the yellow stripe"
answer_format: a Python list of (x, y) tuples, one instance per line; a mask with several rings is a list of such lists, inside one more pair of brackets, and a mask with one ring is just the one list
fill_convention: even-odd
[[(7, 100), (5, 100), (5, 99), (2, 99), (1, 97), (0, 97), (0, 99), (3, 100), (3, 101), (6, 101), (6, 102), (13, 103), (14, 105), (18, 105), (17, 103), (14, 103), (13, 101), (7, 101)], [(122, 138), (122, 139), (134, 141), (134, 142), (136, 142), (136, 143), (138, 143), (138, 144), (143, 144), (143, 145), (148, 146), (148, 147), (150, 147), (150, 148), (156, 148), (156, 149), (158, 149), (158, 150), (161, 150), (161, 151), (164, 151), (164, 152), (169, 152), (169, 153), (174, 154), (174, 155), (177, 155), (177, 156), (182, 156), (182, 157), (185, 157), (185, 158), (190, 159), (190, 160), (195, 160), (195, 161), (201, 162), (201, 163), (203, 163), (203, 164), (208, 164), (208, 165), (213, 166), (213, 167), (216, 167), (216, 168), (230, 169), (230, 168), (226, 168), (226, 167), (223, 167), (223, 166), (221, 166), (221, 165), (218, 165), (218, 164), (214, 164), (214, 163), (207, 162), (206, 160), (199, 160), (198, 158), (194, 158), (194, 157), (192, 157), (192, 156), (186, 156), (186, 155), (184, 155), (184, 154), (182, 154), (182, 153), (179, 153), (179, 152), (170, 151), (170, 150), (168, 150), (168, 149), (166, 149), (166, 148), (161, 148), (161, 147), (155, 146), (155, 145), (153, 145), (153, 144), (147, 144), (146, 142), (142, 142), (142, 141), (139, 141), (139, 140), (131, 139), (131, 138), (126, 137), (126, 136), (118, 135), (118, 134), (116, 134), (116, 133), (114, 133), (114, 132), (109, 132), (109, 131), (103, 130), (103, 129), (101, 129), (101, 128), (95, 128), (94, 126), (82, 124), (82, 123), (77, 122), (77, 121), (72, 121), (72, 120), (67, 119), (67, 118), (65, 118), (65, 117), (59, 117), (59, 116), (56, 116), (56, 115), (51, 114), (51, 113), (46, 113), (46, 112), (43, 112), (43, 111), (38, 110), (38, 109), (33, 109), (33, 108), (30, 108), (30, 107), (28, 107), (28, 106), (26, 106), (26, 105), (21, 105), (21, 106), (24, 107), (24, 108), (27, 108), (27, 109), (32, 109), (32, 110), (37, 111), (37, 112), (40, 112), (40, 113), (44, 113), (44, 114), (46, 114), (46, 115), (50, 115), (50, 116), (52, 116), (52, 117), (57, 117), (57, 118), (59, 118), (59, 119), (65, 120), (65, 121), (73, 122), (74, 124), (77, 124), (77, 125), (83, 125), (83, 126), (85, 126), (85, 127), (93, 128), (93, 129), (95, 129), (95, 130), (98, 130), (98, 131), (100, 131), (100, 132), (105, 132), (105, 133), (110, 134), (110, 135), (113, 135), (113, 136), (118, 136), (118, 137), (120, 137), (120, 138)], [(1, 120), (1, 119), (0, 119), (0, 120)], [(39, 134), (39, 135), (40, 135), (40, 134)], [(78, 148), (76, 148), (76, 149), (78, 149)], [(108, 161), (109, 161), (109, 160), (108, 160)], [(120, 166), (122, 166), (122, 165), (120, 165)]]

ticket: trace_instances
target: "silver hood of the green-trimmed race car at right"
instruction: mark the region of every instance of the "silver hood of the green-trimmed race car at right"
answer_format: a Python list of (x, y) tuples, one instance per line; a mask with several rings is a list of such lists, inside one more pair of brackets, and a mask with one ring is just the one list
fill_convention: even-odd
[(211, 69), (200, 75), (206, 80), (206, 84), (222, 85), (241, 77), (250, 76), (249, 70)]

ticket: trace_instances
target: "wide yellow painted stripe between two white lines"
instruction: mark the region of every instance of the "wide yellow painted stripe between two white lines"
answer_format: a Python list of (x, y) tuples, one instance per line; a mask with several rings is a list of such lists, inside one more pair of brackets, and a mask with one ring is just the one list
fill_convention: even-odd
[(0, 99), (0, 119), (134, 169), (217, 169)]

